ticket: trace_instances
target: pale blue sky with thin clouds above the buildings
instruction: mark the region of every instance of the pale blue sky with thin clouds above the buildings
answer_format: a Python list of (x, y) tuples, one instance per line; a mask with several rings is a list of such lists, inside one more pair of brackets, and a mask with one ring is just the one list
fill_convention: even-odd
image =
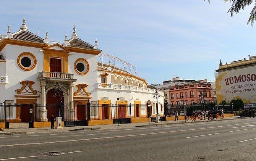
[[(228, 13), (223, 0), (8, 0), (1, 1), (0, 34), (16, 32), (26, 18), (30, 32), (64, 42), (97, 39), (103, 53), (137, 67), (150, 84), (173, 77), (215, 81), (219, 61), (231, 63), (255, 52), (255, 27), (247, 25), (254, 4)], [(255, 24), (256, 25), (256, 24)]]

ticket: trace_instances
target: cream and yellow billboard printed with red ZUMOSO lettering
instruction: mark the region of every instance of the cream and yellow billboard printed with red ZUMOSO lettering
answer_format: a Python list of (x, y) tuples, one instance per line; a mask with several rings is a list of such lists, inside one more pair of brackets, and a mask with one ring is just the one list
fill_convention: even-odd
[(256, 66), (244, 67), (216, 74), (217, 103), (222, 100), (243, 100), (244, 103), (256, 102)]

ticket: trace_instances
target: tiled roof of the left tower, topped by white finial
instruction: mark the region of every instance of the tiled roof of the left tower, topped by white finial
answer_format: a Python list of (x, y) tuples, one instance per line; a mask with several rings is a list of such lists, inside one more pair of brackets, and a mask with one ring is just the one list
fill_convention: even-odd
[(33, 34), (32, 32), (23, 30), (19, 30), (13, 33), (13, 38), (5, 37), (5, 39), (47, 44), (43, 41), (44, 39), (42, 39), (41, 37)]

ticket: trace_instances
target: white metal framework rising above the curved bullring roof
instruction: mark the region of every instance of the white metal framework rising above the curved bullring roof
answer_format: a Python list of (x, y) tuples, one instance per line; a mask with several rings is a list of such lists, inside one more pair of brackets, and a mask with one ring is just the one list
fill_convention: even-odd
[(126, 71), (126, 66), (128, 66), (128, 68), (130, 70), (130, 73), (132, 74), (133, 71), (134, 71), (135, 76), (137, 76), (137, 67), (136, 66), (134, 66), (134, 65), (132, 65), (130, 63), (127, 63), (126, 61), (124, 61), (124, 60), (122, 60), (120, 58), (117, 58), (115, 56), (112, 56), (112, 55), (109, 55), (109, 54), (106, 54), (106, 53), (100, 53), (99, 54), (99, 59), (100, 59), (102, 67), (103, 67), (103, 58), (104, 57), (105, 58), (109, 58), (112, 61), (114, 69), (116, 68), (116, 65), (117, 65), (116, 61), (119, 61), (119, 62), (121, 62), (123, 64), (123, 68), (124, 68), (125, 71)]

